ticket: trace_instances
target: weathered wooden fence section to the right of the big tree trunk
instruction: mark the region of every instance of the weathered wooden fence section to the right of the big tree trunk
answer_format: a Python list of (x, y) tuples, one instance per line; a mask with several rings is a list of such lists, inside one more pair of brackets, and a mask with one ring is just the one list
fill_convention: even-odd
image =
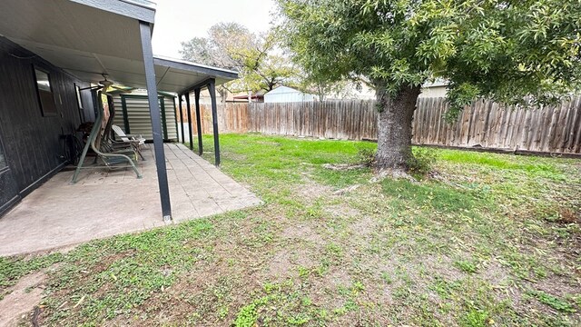
[(454, 124), (442, 118), (448, 110), (443, 98), (419, 99), (418, 107), (413, 122), (415, 144), (581, 153), (579, 97), (542, 108), (507, 107), (479, 100), (463, 110)]

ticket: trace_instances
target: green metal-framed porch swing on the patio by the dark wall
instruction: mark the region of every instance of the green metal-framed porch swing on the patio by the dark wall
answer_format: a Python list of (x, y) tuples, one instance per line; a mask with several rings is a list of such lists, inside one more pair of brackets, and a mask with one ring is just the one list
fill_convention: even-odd
[[(105, 81), (104, 82), (109, 82)], [(109, 82), (111, 83), (111, 82)], [(113, 96), (111, 94), (107, 94), (106, 90), (110, 86), (110, 84), (104, 83), (103, 91), (97, 91), (97, 103), (98, 103), (98, 110), (97, 116), (95, 118), (95, 122), (93, 128), (91, 129), (91, 134), (87, 139), (86, 144), (84, 145), (83, 154), (81, 154), (81, 158), (79, 159), (79, 163), (76, 166), (76, 170), (74, 171), (73, 180), (71, 183), (76, 183), (79, 177), (79, 173), (81, 173), (81, 169), (98, 169), (98, 168), (108, 168), (108, 169), (115, 169), (115, 168), (129, 168), (133, 169), (133, 172), (137, 176), (137, 178), (142, 178), (143, 175), (137, 169), (135, 162), (137, 161), (137, 152), (133, 148), (131, 144), (117, 144), (113, 141), (111, 137), (111, 129), (113, 125), (113, 118), (115, 115), (115, 109), (113, 104)], [(109, 109), (109, 117), (106, 120), (103, 128), (103, 116), (104, 116), (104, 107), (103, 107), (103, 95), (107, 98), (107, 107)], [(83, 167), (84, 159), (86, 158), (86, 154), (91, 148), (94, 151), (95, 160), (94, 165), (90, 167)], [(98, 160), (101, 160), (103, 164), (96, 164)], [(123, 165), (123, 163), (126, 163)]]

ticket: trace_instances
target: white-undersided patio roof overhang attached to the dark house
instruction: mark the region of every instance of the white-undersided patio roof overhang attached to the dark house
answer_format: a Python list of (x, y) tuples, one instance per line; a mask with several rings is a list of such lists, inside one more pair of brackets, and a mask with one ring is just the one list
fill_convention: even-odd
[[(155, 6), (135, 0), (3, 0), (0, 35), (87, 82), (103, 80), (145, 88), (140, 22), (153, 28)], [(236, 72), (154, 56), (158, 90), (182, 93)]]

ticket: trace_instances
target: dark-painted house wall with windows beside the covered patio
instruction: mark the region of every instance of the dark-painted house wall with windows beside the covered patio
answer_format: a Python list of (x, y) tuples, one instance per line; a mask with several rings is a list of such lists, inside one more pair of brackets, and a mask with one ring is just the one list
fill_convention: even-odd
[[(50, 74), (56, 114), (44, 116), (36, 92), (34, 66)], [(0, 37), (0, 214), (64, 166), (62, 134), (81, 124), (74, 85), (88, 86), (41, 57)], [(83, 92), (84, 115), (94, 112)]]

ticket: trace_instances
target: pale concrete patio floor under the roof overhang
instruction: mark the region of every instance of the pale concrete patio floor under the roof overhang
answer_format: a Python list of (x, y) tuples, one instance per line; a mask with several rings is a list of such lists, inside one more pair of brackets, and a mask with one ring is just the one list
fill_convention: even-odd
[[(0, 218), (0, 256), (34, 253), (162, 226), (153, 144), (131, 169), (64, 171)], [(165, 144), (174, 223), (261, 203), (182, 144)], [(92, 161), (91, 158), (89, 158)]]

